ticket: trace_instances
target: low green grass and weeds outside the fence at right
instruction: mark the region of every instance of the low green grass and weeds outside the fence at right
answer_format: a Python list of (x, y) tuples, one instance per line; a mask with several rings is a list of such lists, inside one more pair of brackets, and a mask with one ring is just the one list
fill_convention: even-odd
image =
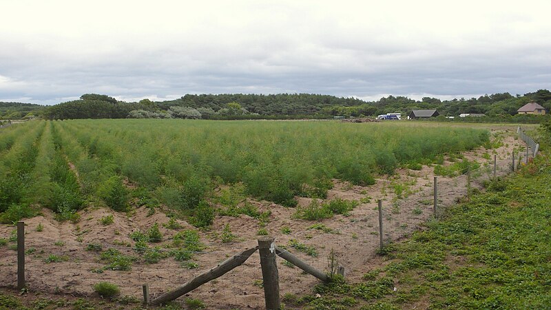
[[(360, 283), (318, 285), (307, 308), (546, 309), (551, 304), (551, 158), (538, 157), (486, 192), (447, 209), (404, 242), (386, 247), (384, 265)], [(397, 289), (394, 290), (394, 287)], [(331, 306), (333, 305), (333, 306)]]

